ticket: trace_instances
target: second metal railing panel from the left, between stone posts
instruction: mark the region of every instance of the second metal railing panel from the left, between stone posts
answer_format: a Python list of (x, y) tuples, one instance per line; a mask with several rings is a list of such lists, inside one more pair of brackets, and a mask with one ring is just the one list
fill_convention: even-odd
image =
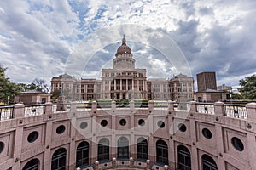
[(45, 112), (45, 105), (25, 105), (24, 116), (38, 116)]

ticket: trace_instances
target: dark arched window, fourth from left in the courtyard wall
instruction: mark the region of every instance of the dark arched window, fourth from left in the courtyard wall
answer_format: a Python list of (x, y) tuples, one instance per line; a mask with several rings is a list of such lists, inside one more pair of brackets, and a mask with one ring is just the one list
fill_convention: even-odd
[(98, 161), (109, 161), (109, 141), (108, 139), (101, 139), (98, 144)]

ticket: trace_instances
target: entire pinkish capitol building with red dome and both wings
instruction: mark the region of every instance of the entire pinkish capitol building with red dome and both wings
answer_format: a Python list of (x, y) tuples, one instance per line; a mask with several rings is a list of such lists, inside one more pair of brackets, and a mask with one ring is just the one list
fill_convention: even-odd
[(113, 68), (102, 69), (101, 80), (76, 79), (67, 74), (53, 77), (51, 90), (63, 92), (67, 99), (156, 99), (189, 101), (193, 99), (194, 80), (183, 74), (147, 79), (147, 70), (135, 67), (125, 37), (113, 59)]

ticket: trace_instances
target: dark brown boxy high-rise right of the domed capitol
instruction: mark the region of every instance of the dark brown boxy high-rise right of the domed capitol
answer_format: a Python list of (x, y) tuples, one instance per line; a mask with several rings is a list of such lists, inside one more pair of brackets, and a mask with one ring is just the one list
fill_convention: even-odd
[(198, 92), (207, 89), (217, 90), (216, 74), (214, 71), (204, 71), (196, 75)]

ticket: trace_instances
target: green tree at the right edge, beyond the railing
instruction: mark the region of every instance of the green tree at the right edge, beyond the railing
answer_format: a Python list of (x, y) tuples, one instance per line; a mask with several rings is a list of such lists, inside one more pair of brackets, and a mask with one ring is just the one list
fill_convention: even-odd
[(256, 99), (256, 75), (241, 79), (239, 82), (241, 95), (245, 99)]

